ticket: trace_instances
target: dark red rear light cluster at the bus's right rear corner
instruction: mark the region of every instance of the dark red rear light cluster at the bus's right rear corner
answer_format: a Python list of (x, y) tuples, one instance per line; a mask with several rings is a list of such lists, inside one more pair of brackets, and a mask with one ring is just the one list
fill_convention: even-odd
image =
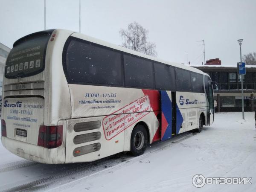
[(56, 148), (61, 146), (63, 137), (63, 126), (45, 126), (39, 128), (38, 146), (45, 148)]

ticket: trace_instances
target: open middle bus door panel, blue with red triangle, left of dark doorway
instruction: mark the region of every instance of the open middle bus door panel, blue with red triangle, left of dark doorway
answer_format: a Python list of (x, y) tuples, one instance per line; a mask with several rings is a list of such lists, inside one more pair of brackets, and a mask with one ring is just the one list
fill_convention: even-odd
[(161, 141), (172, 137), (173, 123), (172, 92), (161, 91)]

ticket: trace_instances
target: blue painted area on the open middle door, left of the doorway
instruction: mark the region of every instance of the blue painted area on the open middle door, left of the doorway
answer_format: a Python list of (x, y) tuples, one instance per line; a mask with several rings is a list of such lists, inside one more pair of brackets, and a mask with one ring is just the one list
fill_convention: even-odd
[(172, 102), (166, 91), (161, 91), (161, 108), (168, 122), (166, 131), (164, 134), (162, 133), (163, 137), (161, 138), (161, 141), (165, 141), (172, 137)]

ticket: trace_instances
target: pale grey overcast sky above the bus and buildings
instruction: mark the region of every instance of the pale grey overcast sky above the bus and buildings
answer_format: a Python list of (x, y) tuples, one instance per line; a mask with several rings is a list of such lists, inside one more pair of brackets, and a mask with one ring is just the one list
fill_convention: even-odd
[[(47, 29), (79, 31), (79, 0), (46, 0)], [(81, 33), (120, 45), (121, 28), (137, 21), (149, 30), (158, 58), (201, 65), (205, 58), (222, 64), (256, 52), (256, 0), (81, 0)], [(12, 44), (44, 30), (44, 0), (0, 0), (0, 42)]]

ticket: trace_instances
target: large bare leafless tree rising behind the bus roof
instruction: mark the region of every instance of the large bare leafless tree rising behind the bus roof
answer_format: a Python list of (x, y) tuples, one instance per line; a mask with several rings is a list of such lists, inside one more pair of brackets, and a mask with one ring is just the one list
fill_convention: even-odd
[(147, 41), (148, 30), (144, 29), (139, 23), (134, 21), (128, 25), (128, 29), (121, 29), (119, 33), (124, 41), (122, 43), (123, 47), (154, 57), (157, 56), (156, 44)]

